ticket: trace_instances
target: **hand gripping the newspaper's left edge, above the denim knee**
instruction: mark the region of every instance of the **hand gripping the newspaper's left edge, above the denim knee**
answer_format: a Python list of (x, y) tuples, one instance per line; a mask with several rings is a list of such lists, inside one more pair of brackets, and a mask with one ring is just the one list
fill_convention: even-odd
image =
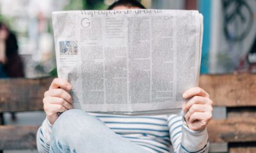
[(72, 86), (61, 78), (54, 78), (49, 90), (44, 93), (44, 111), (49, 122), (53, 125), (58, 119), (59, 112), (72, 109), (72, 97), (67, 91)]

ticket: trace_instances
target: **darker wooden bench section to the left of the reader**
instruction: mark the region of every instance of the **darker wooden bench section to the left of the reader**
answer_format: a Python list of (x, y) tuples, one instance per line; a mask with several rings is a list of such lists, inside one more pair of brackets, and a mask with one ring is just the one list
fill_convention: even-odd
[[(0, 80), (1, 124), (3, 112), (43, 110), (42, 98), (53, 78), (14, 78)], [(0, 150), (36, 149), (38, 126), (0, 126)]]

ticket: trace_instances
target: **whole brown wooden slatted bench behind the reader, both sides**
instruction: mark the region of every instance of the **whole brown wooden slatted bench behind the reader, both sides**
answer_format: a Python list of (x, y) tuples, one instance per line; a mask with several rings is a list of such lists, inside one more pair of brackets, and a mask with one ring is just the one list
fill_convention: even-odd
[[(43, 110), (52, 79), (0, 80), (0, 113)], [(256, 152), (256, 75), (202, 75), (200, 87), (214, 101), (214, 119), (207, 127), (211, 152)], [(38, 127), (0, 126), (0, 150), (36, 149)]]

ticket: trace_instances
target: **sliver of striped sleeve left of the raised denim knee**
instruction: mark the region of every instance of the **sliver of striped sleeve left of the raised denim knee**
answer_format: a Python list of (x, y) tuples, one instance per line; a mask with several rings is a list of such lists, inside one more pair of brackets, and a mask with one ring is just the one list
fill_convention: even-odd
[(52, 131), (52, 126), (50, 122), (45, 119), (44, 122), (42, 123), (42, 126), (37, 131), (36, 134), (36, 145), (37, 145), (37, 150), (40, 153), (48, 153), (50, 152), (50, 142), (51, 142), (51, 131)]

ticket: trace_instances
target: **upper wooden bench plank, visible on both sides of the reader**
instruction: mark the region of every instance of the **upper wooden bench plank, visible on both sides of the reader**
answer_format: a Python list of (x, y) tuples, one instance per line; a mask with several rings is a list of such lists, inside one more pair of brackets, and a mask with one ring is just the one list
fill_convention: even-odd
[[(0, 79), (0, 112), (42, 110), (52, 79)], [(256, 106), (256, 75), (202, 75), (200, 87), (209, 92), (215, 106)]]

